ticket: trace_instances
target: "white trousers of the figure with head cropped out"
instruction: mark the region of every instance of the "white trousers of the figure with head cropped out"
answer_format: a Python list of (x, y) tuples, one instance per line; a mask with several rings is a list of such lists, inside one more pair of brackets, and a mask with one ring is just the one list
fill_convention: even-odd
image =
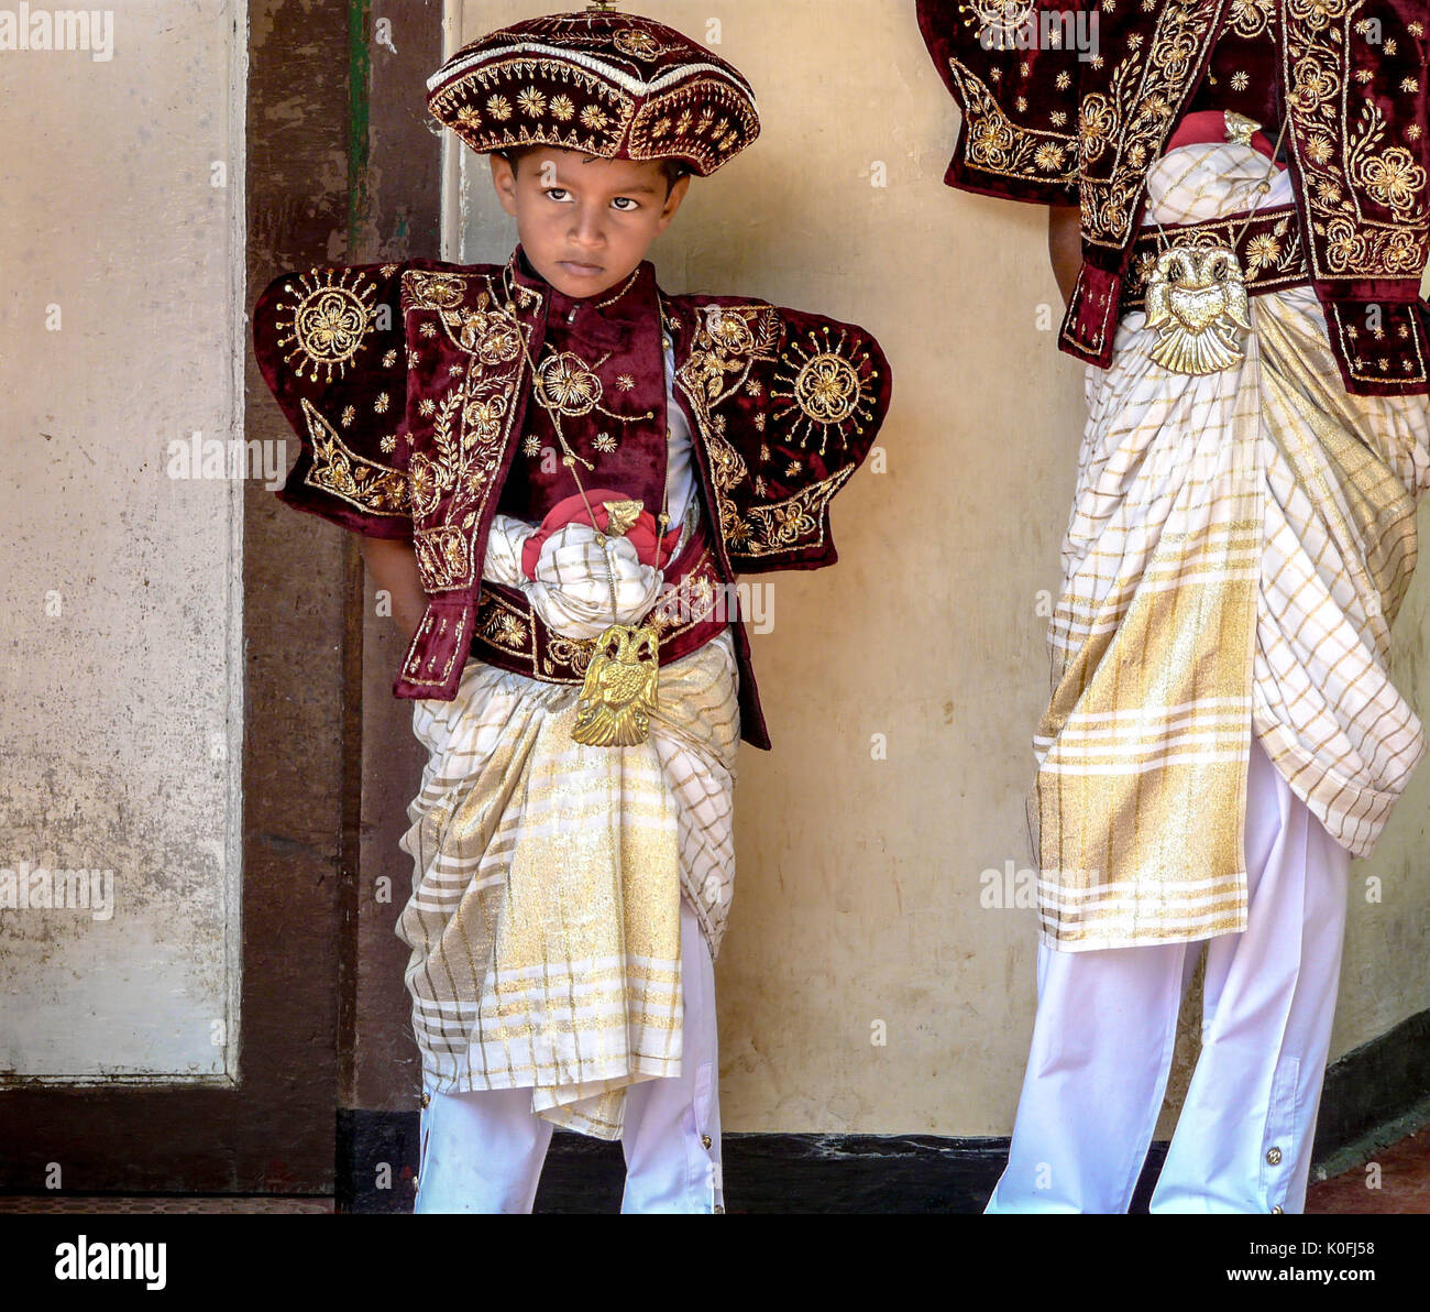
[[(1251, 743), (1248, 924), (1204, 940), (1201, 1056), (1153, 1212), (1300, 1212), (1330, 1047), (1350, 854)], [(1038, 1010), (988, 1212), (1125, 1212), (1203, 943), (1038, 946)]]

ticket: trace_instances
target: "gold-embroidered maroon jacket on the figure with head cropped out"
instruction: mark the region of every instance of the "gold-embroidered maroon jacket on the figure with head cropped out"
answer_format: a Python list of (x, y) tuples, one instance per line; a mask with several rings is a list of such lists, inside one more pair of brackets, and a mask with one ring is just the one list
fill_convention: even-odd
[[(984, 49), (980, 10), (1028, 10), (1038, 49)], [(918, 0), (918, 20), (964, 114), (948, 185), (1081, 206), (1064, 351), (1111, 362), (1147, 170), (1183, 114), (1234, 109), (1274, 139), (1288, 112), (1300, 229), (1346, 389), (1430, 392), (1424, 0)], [(1097, 57), (1084, 60), (1072, 44), (1090, 20)]]

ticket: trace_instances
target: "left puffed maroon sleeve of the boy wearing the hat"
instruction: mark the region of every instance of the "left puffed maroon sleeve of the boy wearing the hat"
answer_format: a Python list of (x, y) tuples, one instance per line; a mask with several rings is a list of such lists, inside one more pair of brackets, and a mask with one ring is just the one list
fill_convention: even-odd
[(302, 444), (279, 499), (372, 538), (412, 537), (402, 269), (295, 269), (253, 309), (259, 369)]

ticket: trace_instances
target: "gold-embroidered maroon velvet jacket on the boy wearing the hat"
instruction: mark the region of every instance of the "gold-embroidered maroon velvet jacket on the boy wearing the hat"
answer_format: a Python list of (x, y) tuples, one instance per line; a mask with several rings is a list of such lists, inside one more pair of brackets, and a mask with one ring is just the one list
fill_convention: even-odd
[[(659, 504), (661, 310), (719, 579), (832, 565), (829, 501), (868, 455), (891, 393), (888, 362), (861, 328), (746, 298), (666, 296), (649, 262), (618, 295), (571, 300), (531, 272), (521, 248), (505, 266), (292, 270), (259, 298), (255, 353), (302, 442), (279, 498), (416, 549), (430, 604), (398, 697), (456, 695), (488, 599), (482, 565), (498, 511), (539, 522), (575, 491), (569, 471), (535, 459), (553, 434), (532, 403), (533, 362), (568, 441), (609, 456), (582, 471), (585, 485), (615, 478)], [(551, 363), (548, 341), (559, 353)], [(598, 385), (612, 378), (616, 388)], [(768, 748), (749, 638), (738, 614), (731, 622), (741, 734)]]

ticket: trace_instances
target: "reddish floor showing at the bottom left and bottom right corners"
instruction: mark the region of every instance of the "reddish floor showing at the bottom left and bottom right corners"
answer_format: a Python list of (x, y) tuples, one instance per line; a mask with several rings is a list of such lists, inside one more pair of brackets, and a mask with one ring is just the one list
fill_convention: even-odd
[[(1371, 1170), (1371, 1167), (1379, 1167)], [(3, 1212), (260, 1212), (260, 1213), (330, 1213), (330, 1198), (232, 1196), (182, 1198), (116, 1195), (47, 1195), (29, 1198), (0, 1195)], [(1401, 1212), (1430, 1213), (1430, 1126), (1399, 1143), (1376, 1152), (1370, 1162), (1344, 1170), (1328, 1180), (1313, 1183), (1306, 1196), (1307, 1212)]]

